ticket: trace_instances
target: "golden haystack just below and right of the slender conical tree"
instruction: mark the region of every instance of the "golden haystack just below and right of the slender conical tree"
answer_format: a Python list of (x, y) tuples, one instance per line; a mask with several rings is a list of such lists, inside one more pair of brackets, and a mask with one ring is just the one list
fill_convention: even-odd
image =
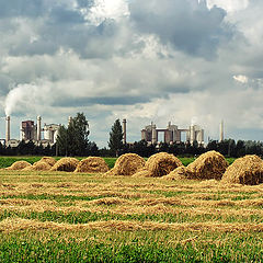
[(126, 153), (121, 156), (113, 169), (105, 175), (133, 175), (145, 167), (145, 159), (136, 153)]

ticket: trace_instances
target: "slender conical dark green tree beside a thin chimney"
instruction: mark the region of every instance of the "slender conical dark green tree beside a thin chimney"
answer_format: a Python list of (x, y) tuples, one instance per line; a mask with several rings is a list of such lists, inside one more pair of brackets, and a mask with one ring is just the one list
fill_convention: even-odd
[(112, 126), (112, 132), (110, 133), (108, 147), (111, 151), (118, 157), (121, 150), (123, 149), (123, 127), (119, 119), (116, 119)]

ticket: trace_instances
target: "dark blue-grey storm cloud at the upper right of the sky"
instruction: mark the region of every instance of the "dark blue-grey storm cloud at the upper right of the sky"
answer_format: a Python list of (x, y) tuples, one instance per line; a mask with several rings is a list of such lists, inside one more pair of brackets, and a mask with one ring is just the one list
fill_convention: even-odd
[(137, 30), (156, 34), (164, 44), (191, 55), (209, 58), (220, 41), (229, 38), (231, 30), (224, 23), (226, 12), (210, 10), (197, 0), (135, 0), (129, 4), (130, 18)]

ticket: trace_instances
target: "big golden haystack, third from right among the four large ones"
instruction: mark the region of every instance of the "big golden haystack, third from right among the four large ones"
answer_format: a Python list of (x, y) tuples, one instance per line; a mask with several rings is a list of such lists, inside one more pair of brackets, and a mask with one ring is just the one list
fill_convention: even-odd
[(151, 156), (147, 160), (145, 168), (134, 174), (134, 176), (163, 176), (181, 165), (183, 165), (182, 162), (175, 156), (167, 152), (159, 152)]

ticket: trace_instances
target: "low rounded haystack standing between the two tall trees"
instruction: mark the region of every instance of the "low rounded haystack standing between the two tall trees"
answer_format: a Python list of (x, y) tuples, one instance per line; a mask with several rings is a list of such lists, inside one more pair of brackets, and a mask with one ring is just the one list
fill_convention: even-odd
[(105, 173), (108, 171), (108, 167), (104, 159), (101, 157), (88, 157), (78, 163), (75, 172), (84, 173)]

